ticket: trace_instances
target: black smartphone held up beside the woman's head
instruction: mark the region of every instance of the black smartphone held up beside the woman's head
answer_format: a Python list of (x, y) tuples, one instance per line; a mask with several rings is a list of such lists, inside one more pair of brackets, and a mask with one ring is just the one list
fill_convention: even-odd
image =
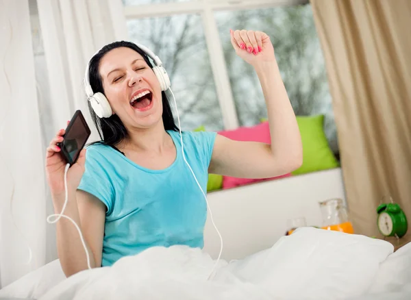
[(64, 140), (58, 143), (58, 147), (62, 149), (60, 153), (70, 166), (75, 164), (77, 158), (79, 158), (79, 153), (86, 145), (90, 134), (90, 127), (88, 127), (86, 119), (82, 112), (77, 110), (66, 128), (66, 133), (63, 136)]

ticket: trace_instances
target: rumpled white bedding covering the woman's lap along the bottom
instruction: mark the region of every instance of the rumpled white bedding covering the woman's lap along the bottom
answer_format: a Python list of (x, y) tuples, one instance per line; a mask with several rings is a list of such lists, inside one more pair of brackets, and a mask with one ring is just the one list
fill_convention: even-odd
[[(214, 260), (200, 249), (156, 247), (87, 270), (39, 299), (411, 299), (411, 244), (393, 253), (383, 240), (312, 227), (297, 229), (245, 260)], [(18, 286), (0, 290), (17, 294)], [(14, 290), (14, 294), (13, 294)]]

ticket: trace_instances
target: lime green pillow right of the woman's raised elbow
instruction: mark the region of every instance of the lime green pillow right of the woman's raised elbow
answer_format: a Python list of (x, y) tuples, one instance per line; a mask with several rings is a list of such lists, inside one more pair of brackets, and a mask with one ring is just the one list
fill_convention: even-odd
[(325, 136), (324, 116), (297, 116), (297, 123), (303, 142), (303, 164), (292, 175), (340, 166)]

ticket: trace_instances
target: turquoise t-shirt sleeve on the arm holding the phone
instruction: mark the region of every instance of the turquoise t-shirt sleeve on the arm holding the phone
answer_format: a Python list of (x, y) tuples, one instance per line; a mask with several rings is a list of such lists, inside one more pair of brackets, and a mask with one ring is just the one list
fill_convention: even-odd
[(114, 207), (114, 188), (108, 175), (106, 158), (99, 152), (99, 145), (92, 145), (86, 151), (85, 171), (77, 189), (97, 197), (107, 207), (106, 214)]

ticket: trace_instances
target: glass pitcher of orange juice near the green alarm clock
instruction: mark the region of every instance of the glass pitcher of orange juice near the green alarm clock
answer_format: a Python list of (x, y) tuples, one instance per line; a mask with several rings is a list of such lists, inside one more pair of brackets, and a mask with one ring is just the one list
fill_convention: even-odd
[(323, 216), (321, 228), (347, 234), (354, 233), (353, 225), (349, 221), (347, 208), (345, 208), (342, 199), (329, 199), (319, 204)]

